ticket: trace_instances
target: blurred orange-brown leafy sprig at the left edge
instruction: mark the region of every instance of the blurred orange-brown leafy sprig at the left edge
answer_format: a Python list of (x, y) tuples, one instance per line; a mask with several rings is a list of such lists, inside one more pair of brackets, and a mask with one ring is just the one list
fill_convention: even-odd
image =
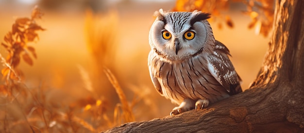
[(1, 45), (7, 50), (8, 55), (4, 57), (0, 54), (3, 65), (5, 66), (1, 70), (3, 78), (6, 77), (6, 84), (10, 82), (20, 81), (22, 72), (17, 69), (20, 63), (20, 59), (25, 61), (28, 65), (33, 65), (33, 60), (30, 54), (34, 58), (37, 58), (34, 47), (28, 46), (30, 42), (34, 42), (38, 39), (37, 31), (44, 31), (41, 26), (36, 23), (36, 19), (41, 19), (43, 13), (35, 6), (31, 17), (20, 17), (15, 20), (12, 26), (12, 31), (8, 32), (4, 36), (4, 43)]

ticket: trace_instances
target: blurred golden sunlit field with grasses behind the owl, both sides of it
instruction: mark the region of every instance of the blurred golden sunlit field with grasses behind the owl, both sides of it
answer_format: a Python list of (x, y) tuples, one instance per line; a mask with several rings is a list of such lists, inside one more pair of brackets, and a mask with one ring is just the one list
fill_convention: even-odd
[[(0, 1), (0, 42), (15, 19), (30, 17), (34, 8), (8, 1)], [(21, 59), (17, 68), (24, 76), (14, 82), (19, 88), (11, 94), (0, 90), (1, 133), (100, 132), (169, 115), (176, 105), (152, 85), (148, 35), (154, 11), (169, 11), (175, 1), (102, 4), (98, 12), (84, 3), (39, 5), (44, 16), (36, 22), (46, 30), (38, 31), (39, 39), (27, 44), (34, 47), (37, 59), (33, 58), (33, 66)], [(250, 17), (241, 11), (227, 12), (233, 28), (219, 29), (214, 21), (211, 26), (215, 38), (230, 50), (244, 91), (257, 75), (269, 37), (249, 30)], [(4, 58), (8, 54), (3, 46), (0, 52)]]

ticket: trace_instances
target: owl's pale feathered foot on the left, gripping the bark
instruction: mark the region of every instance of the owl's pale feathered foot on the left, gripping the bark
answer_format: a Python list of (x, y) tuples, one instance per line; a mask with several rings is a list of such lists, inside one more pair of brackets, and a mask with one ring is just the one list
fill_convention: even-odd
[(173, 110), (170, 113), (170, 116), (178, 115), (183, 112), (189, 111), (194, 109), (194, 100), (191, 99), (185, 99), (180, 106), (173, 108)]

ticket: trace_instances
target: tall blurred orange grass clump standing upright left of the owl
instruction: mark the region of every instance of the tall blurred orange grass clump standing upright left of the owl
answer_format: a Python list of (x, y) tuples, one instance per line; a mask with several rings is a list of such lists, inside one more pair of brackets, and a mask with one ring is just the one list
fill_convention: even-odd
[[(112, 68), (115, 71), (114, 59), (118, 47), (118, 13), (108, 11), (106, 13), (93, 13), (91, 10), (85, 12), (84, 35), (86, 47), (93, 59), (93, 68), (90, 69), (91, 83), (95, 94), (103, 95), (110, 99), (114, 97), (115, 91), (107, 89), (111, 87), (107, 77), (103, 73), (103, 67)], [(112, 100), (110, 100), (112, 101)]]

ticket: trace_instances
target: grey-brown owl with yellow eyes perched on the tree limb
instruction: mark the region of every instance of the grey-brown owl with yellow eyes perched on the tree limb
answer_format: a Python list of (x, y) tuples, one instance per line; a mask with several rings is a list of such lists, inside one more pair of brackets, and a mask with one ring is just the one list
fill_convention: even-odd
[(171, 116), (242, 92), (229, 50), (215, 40), (206, 20), (210, 14), (160, 9), (154, 16), (148, 67), (156, 90), (179, 105)]

